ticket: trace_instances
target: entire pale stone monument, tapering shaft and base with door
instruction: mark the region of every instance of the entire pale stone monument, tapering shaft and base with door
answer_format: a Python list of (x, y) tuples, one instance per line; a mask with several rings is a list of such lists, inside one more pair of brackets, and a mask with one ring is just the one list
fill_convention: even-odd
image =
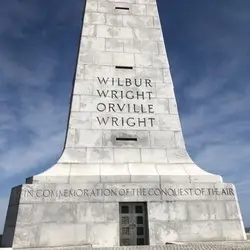
[(12, 189), (3, 245), (244, 240), (232, 184), (182, 135), (156, 0), (86, 0), (64, 151)]

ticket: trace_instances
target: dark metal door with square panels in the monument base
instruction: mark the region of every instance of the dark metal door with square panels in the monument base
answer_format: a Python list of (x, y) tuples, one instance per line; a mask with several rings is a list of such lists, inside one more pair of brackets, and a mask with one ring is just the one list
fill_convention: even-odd
[(120, 245), (148, 244), (146, 203), (120, 203)]

